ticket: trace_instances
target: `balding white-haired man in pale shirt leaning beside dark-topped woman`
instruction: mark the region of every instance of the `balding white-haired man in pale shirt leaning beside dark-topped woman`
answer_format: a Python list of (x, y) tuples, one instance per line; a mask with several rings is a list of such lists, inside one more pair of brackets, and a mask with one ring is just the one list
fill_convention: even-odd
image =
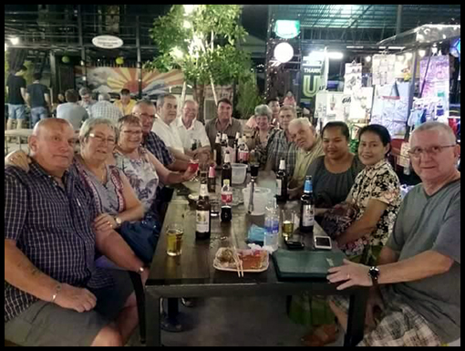
[(314, 160), (323, 156), (323, 144), (321, 138), (316, 135), (314, 126), (308, 119), (294, 119), (289, 124), (289, 132), (297, 146), (294, 174), (292, 174), (289, 188), (291, 195), (298, 195), (304, 189), (306, 171)]

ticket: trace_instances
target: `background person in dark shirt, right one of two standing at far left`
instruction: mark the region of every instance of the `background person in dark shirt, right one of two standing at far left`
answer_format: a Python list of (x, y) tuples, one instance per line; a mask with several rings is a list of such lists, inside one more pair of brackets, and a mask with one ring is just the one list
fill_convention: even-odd
[(42, 76), (40, 73), (34, 74), (34, 82), (27, 87), (26, 101), (31, 108), (32, 128), (40, 119), (47, 119), (51, 111), (50, 91), (40, 84)]

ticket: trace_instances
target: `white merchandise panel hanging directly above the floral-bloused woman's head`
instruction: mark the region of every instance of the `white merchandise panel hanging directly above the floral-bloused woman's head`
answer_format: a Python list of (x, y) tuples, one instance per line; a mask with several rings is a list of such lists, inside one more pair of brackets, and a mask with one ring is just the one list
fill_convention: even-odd
[(377, 87), (371, 124), (385, 126), (392, 137), (403, 137), (408, 120), (408, 88), (408, 83)]

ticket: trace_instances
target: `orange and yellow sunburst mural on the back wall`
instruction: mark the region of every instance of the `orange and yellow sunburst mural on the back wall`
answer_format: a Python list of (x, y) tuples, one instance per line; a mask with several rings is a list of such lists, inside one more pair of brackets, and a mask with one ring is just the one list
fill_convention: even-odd
[[(75, 67), (76, 86), (84, 86), (83, 69)], [(142, 70), (142, 95), (155, 97), (170, 88), (182, 87), (184, 76), (179, 70), (167, 73)], [(132, 95), (139, 93), (138, 69), (127, 67), (88, 67), (88, 88), (96, 93), (119, 93), (128, 88)]]

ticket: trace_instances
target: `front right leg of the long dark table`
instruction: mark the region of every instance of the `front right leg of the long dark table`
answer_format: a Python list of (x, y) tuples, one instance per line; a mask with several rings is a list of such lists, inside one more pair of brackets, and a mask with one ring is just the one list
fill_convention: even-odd
[(363, 339), (365, 329), (365, 315), (369, 289), (359, 289), (350, 295), (350, 305), (347, 319), (347, 332), (344, 346), (356, 346)]

